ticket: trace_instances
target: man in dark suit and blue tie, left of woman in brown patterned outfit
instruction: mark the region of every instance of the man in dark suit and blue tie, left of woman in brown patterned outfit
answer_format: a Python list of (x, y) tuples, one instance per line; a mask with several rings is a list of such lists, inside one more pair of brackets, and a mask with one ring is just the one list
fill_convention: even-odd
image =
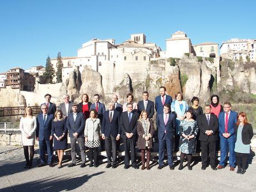
[(120, 117), (121, 137), (124, 140), (125, 146), (124, 169), (129, 168), (130, 159), (132, 168), (139, 169), (135, 162), (135, 144), (137, 139), (137, 120), (139, 119), (139, 114), (133, 111), (132, 103), (127, 103), (126, 107), (127, 111), (122, 112)]

